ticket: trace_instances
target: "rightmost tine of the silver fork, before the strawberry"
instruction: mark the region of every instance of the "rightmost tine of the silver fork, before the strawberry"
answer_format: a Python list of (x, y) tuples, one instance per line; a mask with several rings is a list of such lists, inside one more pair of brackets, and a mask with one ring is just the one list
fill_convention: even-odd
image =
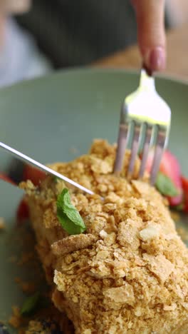
[(152, 185), (155, 184), (157, 172), (160, 168), (160, 162), (162, 160), (162, 154), (164, 151), (165, 143), (166, 143), (166, 132), (158, 128), (157, 142), (156, 142), (155, 153), (154, 153), (154, 158), (152, 162), (152, 170), (150, 174), (150, 183)]

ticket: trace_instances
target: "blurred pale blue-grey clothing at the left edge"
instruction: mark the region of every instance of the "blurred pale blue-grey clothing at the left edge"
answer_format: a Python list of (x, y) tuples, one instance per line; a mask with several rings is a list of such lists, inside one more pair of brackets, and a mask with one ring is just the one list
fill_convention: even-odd
[(13, 19), (6, 20), (0, 52), (0, 86), (46, 74), (51, 64), (38, 50), (33, 37)]

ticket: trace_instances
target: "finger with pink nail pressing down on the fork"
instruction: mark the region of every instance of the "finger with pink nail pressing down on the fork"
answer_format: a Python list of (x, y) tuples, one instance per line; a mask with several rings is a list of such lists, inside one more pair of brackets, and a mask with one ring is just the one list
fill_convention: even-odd
[(132, 4), (143, 61), (151, 71), (160, 71), (166, 64), (164, 0), (132, 0)]

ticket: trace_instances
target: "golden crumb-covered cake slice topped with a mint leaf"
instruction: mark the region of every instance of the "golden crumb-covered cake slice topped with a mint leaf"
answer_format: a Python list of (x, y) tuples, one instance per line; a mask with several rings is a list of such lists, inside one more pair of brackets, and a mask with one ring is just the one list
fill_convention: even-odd
[(137, 180), (139, 159), (126, 180), (129, 158), (127, 151), (115, 176), (115, 146), (97, 140), (88, 155), (51, 165), (93, 196), (51, 176), (39, 186), (21, 183), (51, 298), (76, 334), (188, 327), (188, 250), (167, 201), (147, 176)]

